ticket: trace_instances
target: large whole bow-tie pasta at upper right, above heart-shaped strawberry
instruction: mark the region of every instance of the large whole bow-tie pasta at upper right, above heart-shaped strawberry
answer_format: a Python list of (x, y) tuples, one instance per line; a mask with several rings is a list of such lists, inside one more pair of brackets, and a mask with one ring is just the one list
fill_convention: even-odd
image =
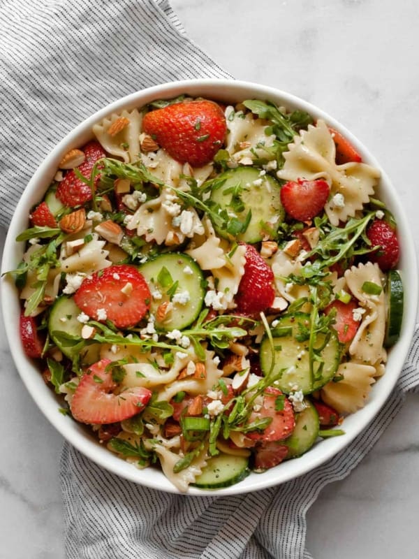
[[(300, 131), (288, 149), (284, 153), (284, 167), (277, 172), (278, 177), (282, 180), (325, 179), (330, 185), (330, 200), (325, 205), (325, 212), (332, 225), (337, 226), (339, 221), (346, 222), (353, 217), (374, 194), (380, 177), (378, 169), (355, 162), (337, 165), (335, 142), (323, 120), (319, 119), (316, 126), (309, 125), (307, 130)], [(341, 196), (336, 198), (337, 194)]]

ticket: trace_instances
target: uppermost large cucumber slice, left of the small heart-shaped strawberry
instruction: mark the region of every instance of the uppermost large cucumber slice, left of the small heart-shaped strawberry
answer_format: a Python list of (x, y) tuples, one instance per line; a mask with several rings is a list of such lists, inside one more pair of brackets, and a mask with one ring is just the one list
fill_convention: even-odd
[[(221, 237), (254, 243), (269, 235), (271, 230), (276, 233), (284, 220), (284, 208), (280, 199), (281, 186), (274, 177), (261, 177), (260, 170), (254, 167), (237, 167), (220, 175), (219, 181), (221, 186), (212, 189), (210, 200), (227, 210), (233, 220), (228, 231), (214, 225)], [(234, 222), (244, 223), (249, 210), (251, 218), (246, 231), (236, 234)], [(265, 228), (264, 224), (267, 224)]]

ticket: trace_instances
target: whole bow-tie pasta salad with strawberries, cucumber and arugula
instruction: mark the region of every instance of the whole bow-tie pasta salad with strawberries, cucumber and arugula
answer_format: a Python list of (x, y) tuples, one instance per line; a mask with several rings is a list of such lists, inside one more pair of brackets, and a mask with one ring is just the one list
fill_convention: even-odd
[(60, 411), (182, 492), (344, 435), (402, 322), (378, 170), (323, 119), (258, 99), (159, 100), (92, 136), (10, 272)]

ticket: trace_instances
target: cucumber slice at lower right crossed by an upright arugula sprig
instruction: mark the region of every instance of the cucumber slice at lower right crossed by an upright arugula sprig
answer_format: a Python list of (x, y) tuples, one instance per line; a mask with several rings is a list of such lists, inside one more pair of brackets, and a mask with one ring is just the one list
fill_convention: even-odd
[[(311, 378), (309, 368), (309, 340), (297, 340), (302, 331), (307, 331), (310, 324), (310, 315), (296, 312), (282, 317), (279, 324), (272, 330), (274, 340), (274, 365), (272, 372), (279, 373), (284, 370), (275, 386), (286, 394), (302, 391), (309, 394), (318, 390), (332, 379), (340, 360), (340, 346), (336, 331), (330, 329), (330, 338), (327, 343), (324, 334), (319, 333), (316, 348), (320, 350), (321, 359), (324, 361), (320, 375)], [(324, 347), (323, 347), (324, 346)], [(315, 348), (315, 349), (316, 349)], [(265, 336), (260, 344), (260, 367), (263, 374), (267, 375), (272, 365), (272, 348), (270, 340)], [(314, 363), (318, 368), (318, 363)]]

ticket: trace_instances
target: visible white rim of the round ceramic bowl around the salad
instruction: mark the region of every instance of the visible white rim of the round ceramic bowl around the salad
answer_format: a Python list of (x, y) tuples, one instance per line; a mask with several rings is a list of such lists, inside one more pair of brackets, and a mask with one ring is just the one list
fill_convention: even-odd
[[(304, 456), (284, 462), (271, 470), (267, 470), (267, 472), (263, 474), (252, 473), (249, 477), (244, 479), (244, 481), (229, 488), (219, 489), (217, 491), (200, 491), (196, 488), (190, 488), (189, 494), (214, 495), (214, 493), (216, 493), (217, 495), (228, 495), (257, 491), (258, 489), (284, 483), (284, 481), (288, 481), (313, 470), (316, 466), (332, 458), (337, 452), (344, 449), (359, 433), (362, 433), (377, 414), (378, 410), (383, 406), (385, 400), (394, 388), (413, 335), (413, 328), (416, 321), (418, 277), (416, 272), (416, 252), (413, 246), (413, 237), (407, 225), (406, 216), (397, 198), (395, 188), (392, 187), (383, 168), (381, 168), (372, 154), (370, 154), (348, 130), (344, 129), (339, 122), (322, 110), (293, 95), (249, 82), (231, 80), (187, 80), (151, 87), (128, 95), (119, 101), (115, 101), (115, 103), (111, 103), (109, 106), (96, 112), (95, 115), (84, 120), (84, 122), (69, 133), (66, 138), (61, 140), (57, 147), (45, 158), (45, 161), (43, 161), (31, 178), (17, 205), (15, 215), (8, 230), (8, 237), (3, 254), (2, 271), (4, 272), (16, 268), (17, 263), (22, 258), (24, 247), (23, 243), (17, 244), (15, 238), (21, 231), (27, 228), (30, 208), (43, 198), (43, 194), (55, 174), (61, 157), (71, 148), (80, 147), (80, 145), (83, 145), (87, 140), (92, 138), (91, 128), (93, 124), (100, 121), (111, 112), (141, 107), (154, 99), (170, 99), (183, 93), (189, 94), (190, 96), (203, 96), (209, 99), (217, 99), (230, 103), (251, 98), (270, 99), (280, 106), (286, 106), (288, 109), (300, 108), (309, 112), (314, 118), (325, 119), (328, 124), (344, 133), (344, 136), (346, 136), (360, 152), (365, 162), (381, 170), (382, 177), (378, 197), (388, 205), (395, 215), (398, 224), (399, 241), (402, 245), (402, 258), (399, 263), (399, 268), (402, 272), (406, 300), (402, 335), (395, 347), (391, 349), (385, 375), (374, 385), (371, 398), (367, 405), (345, 419), (344, 430), (346, 434), (341, 437), (332, 437), (328, 440), (323, 440), (304, 454)], [(20, 372), (20, 376), (32, 398), (34, 398), (36, 404), (40, 407), (45, 416), (47, 416), (47, 419), (49, 419), (52, 425), (57, 428), (59, 433), (61, 433), (66, 440), (71, 442), (74, 447), (107, 470), (134, 481), (135, 483), (176, 493), (177, 490), (175, 487), (170, 484), (170, 481), (168, 481), (159, 470), (152, 467), (145, 470), (138, 470), (133, 465), (117, 458), (115, 454), (98, 444), (97, 440), (89, 434), (86, 428), (73, 421), (70, 417), (63, 416), (58, 412), (58, 408), (61, 405), (59, 398), (45, 385), (39, 370), (34, 366), (34, 363), (24, 355), (24, 351), (22, 350), (19, 335), (20, 303), (15, 286), (10, 278), (4, 277), (1, 287), (6, 334), (17, 370)]]

